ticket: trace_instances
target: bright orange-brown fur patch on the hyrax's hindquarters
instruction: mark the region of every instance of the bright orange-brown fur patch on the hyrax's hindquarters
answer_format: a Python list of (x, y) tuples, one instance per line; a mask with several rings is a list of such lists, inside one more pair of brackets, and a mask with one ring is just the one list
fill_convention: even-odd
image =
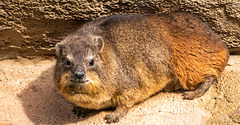
[(172, 46), (174, 74), (186, 90), (194, 90), (208, 76), (218, 78), (227, 64), (228, 51), (223, 44), (213, 44), (196, 34), (189, 39), (175, 35), (171, 40), (175, 41)]

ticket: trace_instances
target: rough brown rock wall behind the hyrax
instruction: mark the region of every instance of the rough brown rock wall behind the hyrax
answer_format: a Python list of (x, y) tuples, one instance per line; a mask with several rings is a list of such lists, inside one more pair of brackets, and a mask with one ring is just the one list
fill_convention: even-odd
[(87, 20), (112, 14), (190, 12), (240, 51), (240, 0), (1, 0), (0, 58), (54, 54)]

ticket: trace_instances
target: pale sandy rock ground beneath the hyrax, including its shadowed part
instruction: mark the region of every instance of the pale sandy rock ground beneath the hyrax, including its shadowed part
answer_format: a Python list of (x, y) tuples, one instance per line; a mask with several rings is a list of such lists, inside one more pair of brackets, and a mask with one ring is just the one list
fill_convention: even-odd
[[(51, 58), (0, 61), (0, 124), (105, 124), (100, 111), (78, 119), (73, 105), (55, 90)], [(135, 105), (117, 124), (240, 124), (240, 56), (231, 56), (219, 83), (201, 98), (183, 100), (181, 92), (159, 93)]]

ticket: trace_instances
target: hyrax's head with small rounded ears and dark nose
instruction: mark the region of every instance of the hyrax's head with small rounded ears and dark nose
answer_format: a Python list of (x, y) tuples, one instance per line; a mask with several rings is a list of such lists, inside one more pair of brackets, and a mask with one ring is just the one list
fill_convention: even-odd
[(102, 49), (102, 37), (93, 35), (75, 34), (58, 43), (55, 72), (58, 87), (78, 91), (84, 84), (99, 84), (99, 54)]

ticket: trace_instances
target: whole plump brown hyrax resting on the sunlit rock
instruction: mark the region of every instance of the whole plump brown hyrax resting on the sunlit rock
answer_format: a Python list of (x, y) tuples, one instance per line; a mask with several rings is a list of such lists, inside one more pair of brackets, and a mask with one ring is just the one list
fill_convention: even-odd
[(208, 26), (182, 12), (92, 21), (58, 43), (56, 53), (59, 92), (79, 107), (116, 107), (107, 123), (161, 90), (189, 90), (185, 99), (202, 96), (229, 58)]

